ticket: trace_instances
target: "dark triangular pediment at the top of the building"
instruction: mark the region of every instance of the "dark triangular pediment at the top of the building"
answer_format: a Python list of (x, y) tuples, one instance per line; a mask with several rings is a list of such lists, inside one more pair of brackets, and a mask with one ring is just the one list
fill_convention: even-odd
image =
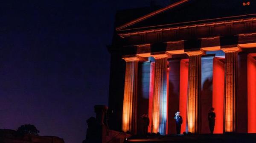
[[(248, 3), (250, 2), (250, 3)], [(180, 0), (116, 28), (116, 31), (256, 17), (254, 0)]]

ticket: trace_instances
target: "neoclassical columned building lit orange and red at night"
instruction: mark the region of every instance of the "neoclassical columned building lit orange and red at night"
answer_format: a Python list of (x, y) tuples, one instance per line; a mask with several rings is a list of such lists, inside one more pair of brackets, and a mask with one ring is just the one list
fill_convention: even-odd
[(111, 53), (109, 126), (148, 132), (256, 133), (256, 2), (176, 0), (119, 11)]

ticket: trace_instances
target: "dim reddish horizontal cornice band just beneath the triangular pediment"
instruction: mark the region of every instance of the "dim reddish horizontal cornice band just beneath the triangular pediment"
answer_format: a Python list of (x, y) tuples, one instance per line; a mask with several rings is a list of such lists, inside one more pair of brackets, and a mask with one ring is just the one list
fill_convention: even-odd
[(122, 37), (122, 45), (142, 45), (181, 41), (188, 39), (203, 39), (204, 37), (223, 37), (256, 32), (256, 17), (219, 22), (208, 22), (180, 26), (163, 27), (137, 31), (117, 31)]

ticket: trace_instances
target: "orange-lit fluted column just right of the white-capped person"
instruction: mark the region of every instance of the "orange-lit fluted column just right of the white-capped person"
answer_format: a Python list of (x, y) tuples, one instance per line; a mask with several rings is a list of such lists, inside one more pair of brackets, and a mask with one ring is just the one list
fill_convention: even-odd
[(186, 54), (189, 56), (186, 132), (198, 133), (198, 102), (201, 93), (201, 55), (203, 52), (192, 51)]

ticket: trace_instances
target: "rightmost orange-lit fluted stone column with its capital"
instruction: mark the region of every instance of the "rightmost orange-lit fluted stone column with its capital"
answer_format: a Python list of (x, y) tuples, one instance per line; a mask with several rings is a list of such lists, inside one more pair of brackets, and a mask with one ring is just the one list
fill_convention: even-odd
[(224, 48), (224, 132), (236, 132), (236, 95), (237, 95), (237, 53), (239, 48)]

